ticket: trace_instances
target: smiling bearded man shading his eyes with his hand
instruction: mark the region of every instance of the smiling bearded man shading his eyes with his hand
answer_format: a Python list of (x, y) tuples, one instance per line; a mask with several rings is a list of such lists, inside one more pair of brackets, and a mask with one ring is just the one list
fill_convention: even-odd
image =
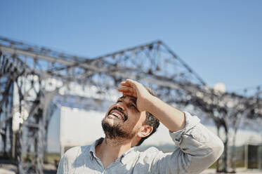
[[(123, 96), (102, 121), (105, 138), (69, 149), (58, 173), (200, 173), (221, 156), (223, 143), (197, 116), (167, 105), (137, 81), (121, 84)], [(169, 129), (176, 144), (173, 153), (133, 149), (156, 131), (156, 118)]]

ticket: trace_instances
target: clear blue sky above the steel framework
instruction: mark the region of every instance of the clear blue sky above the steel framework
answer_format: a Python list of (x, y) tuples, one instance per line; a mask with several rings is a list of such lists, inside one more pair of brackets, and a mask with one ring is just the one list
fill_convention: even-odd
[(0, 35), (95, 57), (161, 39), (209, 86), (262, 84), (262, 1), (2, 1)]

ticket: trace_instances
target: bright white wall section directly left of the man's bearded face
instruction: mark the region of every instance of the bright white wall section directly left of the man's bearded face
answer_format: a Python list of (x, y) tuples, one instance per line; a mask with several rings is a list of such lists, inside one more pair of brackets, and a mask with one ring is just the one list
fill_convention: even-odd
[(101, 121), (105, 112), (61, 107), (60, 145), (61, 154), (68, 147), (89, 145), (103, 137)]

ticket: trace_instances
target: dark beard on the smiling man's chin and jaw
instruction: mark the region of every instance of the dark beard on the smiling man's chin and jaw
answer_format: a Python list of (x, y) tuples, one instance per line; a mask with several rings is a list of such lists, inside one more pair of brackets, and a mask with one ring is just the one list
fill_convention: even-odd
[(130, 140), (136, 134), (131, 131), (124, 131), (119, 123), (117, 125), (110, 125), (106, 119), (102, 120), (102, 128), (105, 133), (105, 137), (109, 139), (121, 138)]

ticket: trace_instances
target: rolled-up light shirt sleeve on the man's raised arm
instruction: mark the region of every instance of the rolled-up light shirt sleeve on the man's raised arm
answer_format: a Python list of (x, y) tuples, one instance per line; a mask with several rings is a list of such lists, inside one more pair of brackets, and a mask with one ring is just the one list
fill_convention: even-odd
[(176, 149), (158, 153), (153, 170), (157, 173), (201, 173), (223, 153), (223, 142), (200, 123), (197, 116), (185, 112), (185, 128), (169, 132)]

